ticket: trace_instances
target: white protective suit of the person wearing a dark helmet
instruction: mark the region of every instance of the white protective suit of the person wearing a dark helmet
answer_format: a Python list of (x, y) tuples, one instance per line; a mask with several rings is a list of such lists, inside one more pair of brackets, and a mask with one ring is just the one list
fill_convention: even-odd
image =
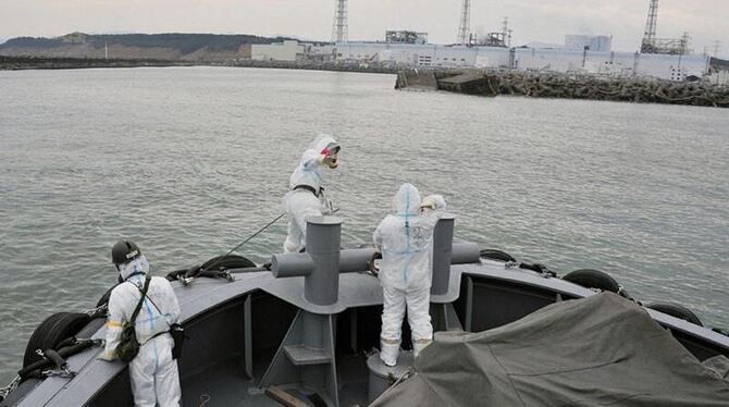
[[(120, 270), (124, 282), (111, 292), (109, 298), (107, 345), (101, 359), (116, 358), (122, 323), (132, 318), (148, 272), (149, 263), (144, 256)], [(180, 406), (180, 373), (177, 361), (172, 358), (174, 341), (164, 333), (178, 319), (180, 306), (172, 285), (166, 279), (153, 276), (135, 321), (139, 354), (129, 362), (132, 393), (137, 407)]]

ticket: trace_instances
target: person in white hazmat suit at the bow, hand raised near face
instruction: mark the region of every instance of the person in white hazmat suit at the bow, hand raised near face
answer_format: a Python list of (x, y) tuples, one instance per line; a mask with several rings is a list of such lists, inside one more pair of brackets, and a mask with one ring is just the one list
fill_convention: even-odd
[(306, 244), (307, 219), (332, 214), (332, 202), (324, 197), (323, 178), (325, 169), (338, 166), (339, 145), (328, 135), (317, 137), (304, 151), (298, 166), (289, 178), (291, 190), (284, 197), (284, 208), (288, 213), (288, 235), (284, 252), (298, 252)]

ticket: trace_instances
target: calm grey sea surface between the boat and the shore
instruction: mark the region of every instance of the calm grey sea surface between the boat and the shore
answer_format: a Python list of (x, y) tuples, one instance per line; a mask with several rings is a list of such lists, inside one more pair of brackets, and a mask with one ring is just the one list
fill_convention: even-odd
[[(393, 90), (392, 75), (248, 69), (0, 72), (0, 385), (46, 317), (91, 308), (139, 243), (156, 274), (281, 212), (319, 132), (343, 145), (343, 243), (403, 182), (456, 234), (729, 325), (729, 111)], [(285, 222), (242, 250), (281, 250)]]

